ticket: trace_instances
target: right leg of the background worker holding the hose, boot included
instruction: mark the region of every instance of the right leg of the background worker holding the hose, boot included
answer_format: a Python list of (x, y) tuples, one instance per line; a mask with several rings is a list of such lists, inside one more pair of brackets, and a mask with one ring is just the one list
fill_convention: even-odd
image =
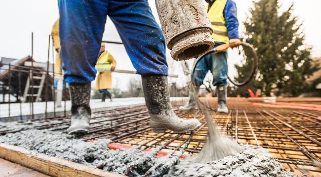
[(228, 113), (227, 108), (227, 52), (215, 53), (213, 57), (213, 86), (216, 86), (217, 111)]

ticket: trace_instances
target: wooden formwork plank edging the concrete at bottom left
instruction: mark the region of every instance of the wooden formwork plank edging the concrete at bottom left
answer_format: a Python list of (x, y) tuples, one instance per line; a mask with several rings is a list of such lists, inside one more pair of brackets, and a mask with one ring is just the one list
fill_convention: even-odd
[(124, 177), (16, 146), (0, 144), (0, 158), (53, 177)]

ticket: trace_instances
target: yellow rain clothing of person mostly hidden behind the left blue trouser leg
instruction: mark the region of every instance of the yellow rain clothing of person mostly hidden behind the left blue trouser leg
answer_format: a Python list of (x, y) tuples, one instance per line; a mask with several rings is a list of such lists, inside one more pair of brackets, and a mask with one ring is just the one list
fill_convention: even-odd
[(56, 73), (55, 78), (58, 78), (60, 75), (59, 73), (64, 74), (64, 71), (61, 69), (62, 62), (60, 57), (59, 19), (55, 22), (55, 24), (52, 27), (51, 36), (53, 40), (53, 46), (56, 49), (56, 51), (58, 51), (54, 68), (54, 72)]

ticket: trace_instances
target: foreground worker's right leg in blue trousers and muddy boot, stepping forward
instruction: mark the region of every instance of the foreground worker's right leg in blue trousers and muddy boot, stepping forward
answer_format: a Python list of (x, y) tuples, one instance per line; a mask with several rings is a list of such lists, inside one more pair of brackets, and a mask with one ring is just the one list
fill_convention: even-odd
[(196, 119), (183, 120), (169, 101), (165, 41), (147, 0), (111, 0), (109, 16), (142, 83), (146, 105), (155, 131), (186, 132), (200, 125)]

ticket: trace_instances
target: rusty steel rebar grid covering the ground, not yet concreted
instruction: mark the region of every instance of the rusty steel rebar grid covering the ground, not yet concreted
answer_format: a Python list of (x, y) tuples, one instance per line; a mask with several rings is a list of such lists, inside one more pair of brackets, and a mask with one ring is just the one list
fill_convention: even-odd
[[(211, 108), (213, 121), (221, 133), (227, 134), (239, 144), (251, 144), (267, 149), (286, 170), (297, 175), (320, 177), (321, 169), (321, 98), (278, 98), (276, 103), (263, 98), (228, 98), (228, 114), (215, 113), (216, 98), (201, 98)], [(154, 133), (149, 125), (145, 105), (127, 105), (115, 109), (93, 111), (90, 132), (86, 141), (100, 138), (112, 140), (111, 149), (139, 146), (150, 149), (163, 147), (158, 156), (182, 148), (191, 137), (183, 157), (196, 155), (204, 146), (207, 127), (200, 110), (178, 111), (186, 103), (185, 98), (172, 102), (175, 113), (181, 118), (198, 118), (202, 125), (194, 134), (175, 134), (171, 131)], [(41, 122), (36, 129), (51, 129), (66, 133), (70, 124), (67, 118), (36, 118)], [(0, 134), (13, 133), (1, 131)], [(318, 164), (319, 163), (319, 164)]]

